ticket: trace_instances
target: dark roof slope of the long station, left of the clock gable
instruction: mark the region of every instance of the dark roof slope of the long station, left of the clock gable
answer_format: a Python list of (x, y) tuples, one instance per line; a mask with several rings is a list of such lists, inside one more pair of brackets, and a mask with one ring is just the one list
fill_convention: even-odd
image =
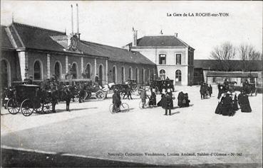
[[(38, 28), (36, 26), (29, 26), (21, 23), (12, 23), (9, 27), (12, 35), (16, 37), (18, 34), (21, 40), (16, 42), (19, 44), (18, 47), (27, 47), (40, 50), (55, 50), (63, 51), (64, 47), (56, 43), (51, 36), (66, 35), (66, 33), (59, 32), (56, 30), (48, 30), (45, 28)], [(16, 34), (17, 32), (17, 34)], [(23, 43), (23, 44), (21, 44)]]

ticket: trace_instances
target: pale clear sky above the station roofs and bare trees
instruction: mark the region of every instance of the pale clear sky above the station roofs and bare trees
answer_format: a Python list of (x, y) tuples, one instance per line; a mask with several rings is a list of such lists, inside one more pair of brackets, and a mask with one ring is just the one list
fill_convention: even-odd
[[(71, 33), (71, 4), (76, 4), (81, 39), (114, 47), (145, 35), (174, 35), (195, 48), (195, 59), (208, 59), (217, 45), (253, 45), (262, 52), (262, 1), (1, 1), (1, 25), (14, 21)], [(167, 16), (178, 13), (182, 16)], [(190, 16), (183, 16), (186, 13)], [(191, 16), (228, 13), (228, 16)]]

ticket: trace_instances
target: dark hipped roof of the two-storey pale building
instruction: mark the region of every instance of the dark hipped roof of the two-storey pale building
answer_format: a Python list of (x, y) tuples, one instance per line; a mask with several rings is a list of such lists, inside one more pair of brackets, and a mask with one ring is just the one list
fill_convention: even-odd
[[(128, 45), (132, 45), (129, 43)], [(138, 47), (189, 47), (174, 35), (144, 36), (137, 40)]]

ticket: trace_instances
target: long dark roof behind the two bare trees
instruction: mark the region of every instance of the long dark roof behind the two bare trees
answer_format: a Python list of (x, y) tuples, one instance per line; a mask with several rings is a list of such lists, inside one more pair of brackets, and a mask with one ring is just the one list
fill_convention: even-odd
[[(262, 60), (253, 60), (250, 62), (242, 60), (229, 60), (228, 62), (232, 71), (244, 70), (244, 63), (249, 63), (249, 70), (262, 71)], [(194, 67), (222, 71), (222, 65), (219, 60), (194, 60)]]

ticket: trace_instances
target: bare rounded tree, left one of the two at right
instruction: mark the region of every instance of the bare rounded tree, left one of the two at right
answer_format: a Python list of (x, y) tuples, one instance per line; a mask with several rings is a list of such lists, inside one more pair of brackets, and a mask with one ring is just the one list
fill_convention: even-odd
[(224, 71), (232, 71), (237, 65), (234, 65), (233, 62), (230, 62), (230, 60), (233, 60), (235, 55), (235, 47), (230, 42), (225, 42), (212, 50), (210, 58), (218, 61), (220, 69)]

